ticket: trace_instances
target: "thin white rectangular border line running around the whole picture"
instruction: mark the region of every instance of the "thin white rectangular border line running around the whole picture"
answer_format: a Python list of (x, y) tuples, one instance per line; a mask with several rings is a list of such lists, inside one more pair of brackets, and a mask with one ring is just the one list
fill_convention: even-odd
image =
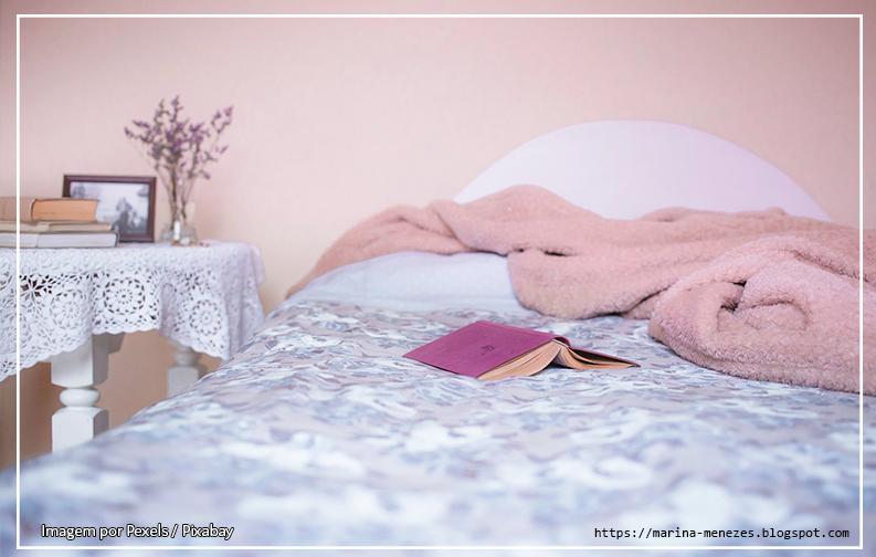
[[(651, 13), (651, 14), (553, 14), (553, 13), (505, 13), (505, 14), (351, 14), (351, 13), (314, 13), (314, 14), (220, 14), (220, 13), (17, 13), (15, 14), (15, 197), (21, 198), (21, 19), (854, 19), (858, 20), (858, 237), (859, 237), (859, 270), (858, 281), (858, 545), (857, 546), (22, 546), (21, 545), (21, 380), (15, 381), (15, 548), (17, 549), (208, 549), (208, 550), (235, 550), (235, 549), (519, 549), (519, 550), (549, 550), (549, 549), (605, 549), (605, 550), (710, 550), (710, 549), (864, 549), (864, 14), (813, 14), (813, 13), (730, 13), (730, 14), (696, 14), (696, 13)], [(21, 243), (20, 243), (20, 207), (15, 208), (15, 277), (21, 276)], [(15, 364), (21, 368), (21, 292), (15, 288)]]

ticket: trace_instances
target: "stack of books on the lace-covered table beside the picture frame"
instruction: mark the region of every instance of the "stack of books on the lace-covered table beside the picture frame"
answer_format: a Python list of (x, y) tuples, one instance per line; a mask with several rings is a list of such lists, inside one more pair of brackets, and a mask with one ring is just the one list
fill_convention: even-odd
[[(0, 248), (15, 246), (15, 204), (0, 197)], [(21, 248), (113, 248), (118, 234), (96, 214), (96, 199), (21, 198)]]

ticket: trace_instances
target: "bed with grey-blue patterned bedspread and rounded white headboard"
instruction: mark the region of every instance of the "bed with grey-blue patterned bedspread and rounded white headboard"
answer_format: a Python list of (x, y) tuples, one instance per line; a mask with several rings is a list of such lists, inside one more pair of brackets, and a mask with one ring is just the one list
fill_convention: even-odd
[[(701, 132), (656, 123), (614, 123), (608, 136), (604, 124), (576, 128), (520, 147), (461, 200), (518, 181), (508, 170), (515, 165), (517, 176), (531, 170), (523, 179), (562, 191), (550, 177), (532, 176), (536, 167), (574, 165), (570, 144), (632, 134), (621, 140), (631, 154), (640, 139), (642, 148), (659, 145), (662, 156), (676, 145), (677, 168), (706, 172), (700, 151), (697, 165), (684, 164), (688, 141), (698, 138), (697, 149), (704, 143), (707, 151), (717, 149), (709, 156), (726, 168), (762, 178), (751, 203), (826, 218), (766, 161)], [(546, 147), (555, 140), (563, 148)], [(555, 157), (560, 151), (571, 158)], [(598, 164), (588, 171), (610, 176), (593, 170)], [(679, 174), (675, 166), (661, 168), (638, 171), (657, 181)], [(687, 174), (688, 180), (672, 180), (683, 197), (686, 188), (701, 188), (695, 172)], [(642, 187), (634, 178), (627, 172), (624, 180)], [(611, 189), (630, 195), (621, 181)], [(483, 382), (401, 357), (476, 319), (552, 332), (642, 367), (549, 368)], [(21, 543), (856, 546), (862, 525), (876, 529), (869, 467), (859, 521), (858, 411), (855, 395), (699, 368), (648, 337), (647, 322), (567, 322), (527, 311), (497, 255), (399, 253), (317, 278), (274, 308), (219, 370), (182, 393), (89, 443), (23, 463)], [(869, 399), (863, 416), (866, 464), (873, 466), (876, 408)], [(14, 547), (14, 470), (7, 470), (0, 474), (4, 555)], [(42, 536), (42, 525), (159, 523), (212, 524), (215, 532), (203, 532), (217, 535), (220, 527), (234, 530), (229, 540), (181, 532), (173, 538)], [(814, 528), (825, 537), (796, 537)]]

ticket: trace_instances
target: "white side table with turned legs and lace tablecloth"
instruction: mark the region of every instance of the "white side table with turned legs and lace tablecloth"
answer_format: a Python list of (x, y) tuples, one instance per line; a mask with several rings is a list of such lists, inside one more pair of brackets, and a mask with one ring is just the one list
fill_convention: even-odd
[[(125, 334), (158, 330), (175, 347), (168, 396), (203, 376), (201, 354), (228, 359), (264, 320), (257, 248), (122, 244), (110, 249), (0, 250), (0, 380), (51, 361), (63, 408), (52, 416), (52, 451), (105, 431), (95, 385)], [(21, 359), (15, 361), (15, 285)]]

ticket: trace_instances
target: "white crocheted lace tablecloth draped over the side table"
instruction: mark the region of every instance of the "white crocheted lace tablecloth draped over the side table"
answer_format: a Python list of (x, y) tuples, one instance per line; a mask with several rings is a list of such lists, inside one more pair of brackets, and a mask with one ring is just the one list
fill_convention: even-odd
[[(15, 374), (15, 250), (0, 249), (0, 380)], [(102, 333), (157, 329), (229, 358), (264, 319), (258, 249), (122, 244), (21, 250), (21, 368)]]

